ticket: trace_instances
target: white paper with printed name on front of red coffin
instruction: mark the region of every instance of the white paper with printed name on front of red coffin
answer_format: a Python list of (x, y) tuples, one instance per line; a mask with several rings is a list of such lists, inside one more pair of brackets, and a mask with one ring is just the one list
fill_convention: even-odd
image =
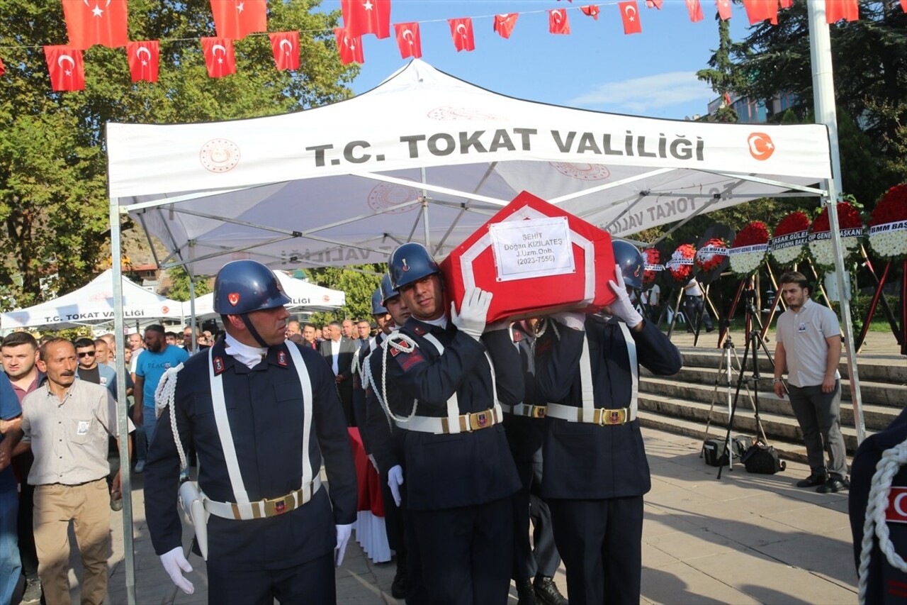
[(566, 216), (488, 225), (498, 282), (576, 272)]

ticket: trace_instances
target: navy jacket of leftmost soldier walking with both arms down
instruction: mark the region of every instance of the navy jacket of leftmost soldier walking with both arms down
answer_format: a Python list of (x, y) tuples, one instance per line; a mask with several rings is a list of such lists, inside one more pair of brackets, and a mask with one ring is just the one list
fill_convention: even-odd
[[(223, 363), (227, 416), (239, 471), (249, 501), (277, 498), (302, 483), (302, 388), (285, 342), (268, 349), (264, 362), (249, 370), (214, 345), (214, 362)], [(299, 348), (312, 383), (312, 424), (308, 460), (317, 477), (322, 456), (325, 486), (307, 504), (268, 519), (236, 521), (214, 515), (208, 521), (209, 562), (221, 569), (286, 569), (330, 552), (335, 524), (356, 521), (356, 469), (334, 374), (321, 356)], [(199, 487), (214, 501), (235, 501), (211, 405), (208, 353), (193, 355), (177, 376), (177, 428), (185, 451), (199, 455)], [(215, 365), (217, 367), (217, 365)], [(145, 465), (145, 515), (159, 555), (181, 545), (177, 510), (180, 458), (164, 412)], [(333, 511), (332, 511), (333, 506)]]

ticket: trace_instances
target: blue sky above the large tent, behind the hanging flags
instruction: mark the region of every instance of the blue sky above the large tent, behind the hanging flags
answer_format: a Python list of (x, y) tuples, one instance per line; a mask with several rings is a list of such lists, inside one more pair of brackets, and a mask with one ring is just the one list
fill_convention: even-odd
[[(420, 22), (423, 60), (463, 80), (532, 101), (619, 114), (678, 118), (706, 114), (713, 94), (696, 78), (707, 66), (718, 32), (714, 0), (701, 0), (705, 19), (691, 23), (682, 0), (662, 9), (639, 1), (642, 33), (624, 35), (617, 2), (576, 0), (393, 0), (391, 23)], [(339, 7), (325, 0), (323, 7)], [(598, 4), (598, 21), (579, 7)], [(548, 13), (565, 8), (570, 35), (548, 31)], [(733, 5), (731, 32), (746, 36), (742, 5)], [(521, 15), (509, 40), (493, 32), (493, 15)], [(447, 19), (473, 17), (475, 50), (457, 53)], [(352, 87), (356, 94), (379, 84), (405, 65), (396, 40), (363, 38), (365, 64)]]

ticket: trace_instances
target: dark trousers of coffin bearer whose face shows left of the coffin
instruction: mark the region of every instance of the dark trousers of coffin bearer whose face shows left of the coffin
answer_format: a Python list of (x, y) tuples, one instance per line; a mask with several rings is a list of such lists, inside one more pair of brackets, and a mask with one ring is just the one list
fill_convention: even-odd
[[(513, 560), (512, 497), (410, 514), (430, 603), (507, 603)], [(411, 559), (413, 555), (410, 552)]]

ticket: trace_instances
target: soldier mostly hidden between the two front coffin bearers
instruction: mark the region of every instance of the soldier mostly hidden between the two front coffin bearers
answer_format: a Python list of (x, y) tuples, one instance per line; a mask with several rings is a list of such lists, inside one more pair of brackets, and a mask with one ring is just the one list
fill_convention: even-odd
[[(516, 582), (518, 605), (566, 605), (553, 576), (561, 566), (561, 556), (554, 545), (551, 511), (541, 500), (542, 456), (545, 438), (547, 402), (535, 386), (533, 342), (538, 320), (515, 322), (511, 326), (514, 346), (520, 353), (526, 397), (518, 405), (504, 405), (504, 430), (516, 462), (522, 487), (513, 497), (513, 580)], [(530, 543), (532, 520), (532, 543)], [(534, 580), (533, 580), (534, 579)]]

